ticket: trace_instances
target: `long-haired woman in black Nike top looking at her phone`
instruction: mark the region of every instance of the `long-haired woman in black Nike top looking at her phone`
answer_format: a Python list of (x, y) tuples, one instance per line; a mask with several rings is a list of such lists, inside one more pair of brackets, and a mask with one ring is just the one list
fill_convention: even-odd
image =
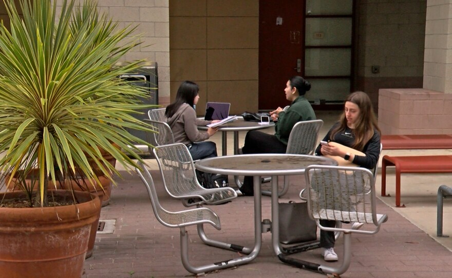
[[(348, 153), (340, 146), (322, 144), (318, 145), (315, 154), (343, 157), (360, 167), (373, 169), (380, 156), (380, 134), (369, 96), (365, 92), (354, 92), (345, 100), (344, 112), (339, 122), (333, 125), (323, 141), (336, 142), (359, 150), (365, 156)], [(335, 221), (321, 220), (320, 223), (325, 227), (335, 226)], [(320, 231), (320, 247), (323, 248), (322, 255), (327, 262), (337, 261), (334, 243), (334, 232)]]

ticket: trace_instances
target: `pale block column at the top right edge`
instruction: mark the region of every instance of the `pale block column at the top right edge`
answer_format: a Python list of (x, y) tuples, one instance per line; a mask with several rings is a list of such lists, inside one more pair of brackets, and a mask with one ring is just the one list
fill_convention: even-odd
[(452, 93), (452, 0), (427, 0), (424, 89)]

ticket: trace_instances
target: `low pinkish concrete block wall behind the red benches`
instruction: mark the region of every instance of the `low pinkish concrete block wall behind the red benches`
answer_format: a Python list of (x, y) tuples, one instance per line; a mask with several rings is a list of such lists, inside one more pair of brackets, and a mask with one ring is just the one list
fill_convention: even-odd
[(382, 134), (452, 134), (452, 94), (429, 89), (380, 89)]

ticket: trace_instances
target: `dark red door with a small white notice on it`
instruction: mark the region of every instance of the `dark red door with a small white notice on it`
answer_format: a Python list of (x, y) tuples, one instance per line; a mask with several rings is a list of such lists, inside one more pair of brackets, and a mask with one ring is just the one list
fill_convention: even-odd
[(259, 110), (289, 105), (286, 82), (304, 75), (304, 14), (305, 0), (259, 1)]

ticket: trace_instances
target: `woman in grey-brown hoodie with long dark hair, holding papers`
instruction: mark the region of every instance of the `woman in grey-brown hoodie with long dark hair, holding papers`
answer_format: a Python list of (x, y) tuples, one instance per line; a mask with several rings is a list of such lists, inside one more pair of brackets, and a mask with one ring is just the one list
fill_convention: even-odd
[(193, 160), (217, 156), (214, 142), (202, 142), (214, 135), (218, 128), (209, 128), (199, 132), (198, 126), (205, 126), (218, 121), (204, 121), (196, 117), (194, 106), (199, 101), (199, 87), (191, 81), (184, 81), (179, 86), (176, 100), (165, 110), (167, 123), (171, 127), (176, 143), (185, 144)]

